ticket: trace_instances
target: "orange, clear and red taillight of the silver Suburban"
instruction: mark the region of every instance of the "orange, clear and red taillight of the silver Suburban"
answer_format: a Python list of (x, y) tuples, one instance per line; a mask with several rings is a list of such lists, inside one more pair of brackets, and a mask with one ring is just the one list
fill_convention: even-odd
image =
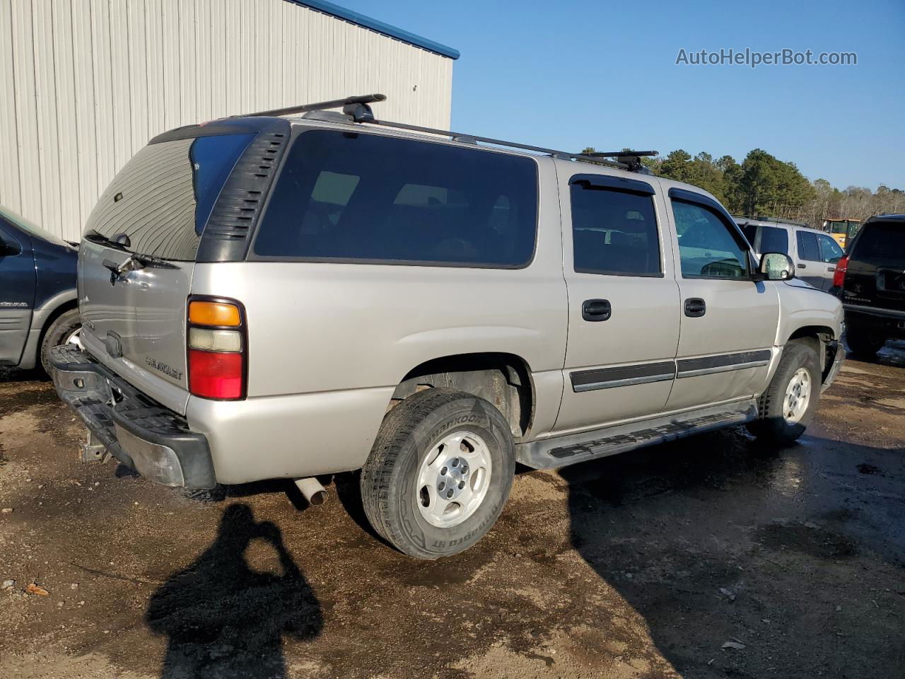
[(243, 399), (248, 383), (248, 328), (242, 303), (193, 295), (188, 298), (186, 320), (189, 392), (220, 401)]

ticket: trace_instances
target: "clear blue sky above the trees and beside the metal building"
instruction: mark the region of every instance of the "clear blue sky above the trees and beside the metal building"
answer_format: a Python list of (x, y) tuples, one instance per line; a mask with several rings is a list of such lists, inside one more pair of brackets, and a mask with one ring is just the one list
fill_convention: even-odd
[[(752, 148), (834, 186), (905, 190), (905, 2), (335, 0), (458, 49), (452, 127), (579, 150)], [(677, 66), (686, 51), (856, 66)]]

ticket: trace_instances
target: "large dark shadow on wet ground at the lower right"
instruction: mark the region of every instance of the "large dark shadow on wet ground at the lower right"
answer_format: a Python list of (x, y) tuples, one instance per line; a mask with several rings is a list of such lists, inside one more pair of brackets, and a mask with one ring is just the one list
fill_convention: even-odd
[[(895, 493), (900, 460), (816, 437), (765, 448), (738, 427), (559, 474), (573, 547), (682, 676), (870, 676), (894, 651), (875, 641), (885, 627), (855, 617), (848, 569), (865, 549), (905, 555), (897, 506), (879, 500)], [(840, 653), (837, 630), (858, 650)], [(800, 639), (814, 650), (801, 654)]]

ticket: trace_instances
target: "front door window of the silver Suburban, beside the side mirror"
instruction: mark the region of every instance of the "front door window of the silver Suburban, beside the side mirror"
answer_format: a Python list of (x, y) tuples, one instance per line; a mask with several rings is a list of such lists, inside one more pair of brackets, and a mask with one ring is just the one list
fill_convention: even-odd
[(748, 278), (748, 250), (738, 232), (705, 206), (672, 199), (683, 278)]

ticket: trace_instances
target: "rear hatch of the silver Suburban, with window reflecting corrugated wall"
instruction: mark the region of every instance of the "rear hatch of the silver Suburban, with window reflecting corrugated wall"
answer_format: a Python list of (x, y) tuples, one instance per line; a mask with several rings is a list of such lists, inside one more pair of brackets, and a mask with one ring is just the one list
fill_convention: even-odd
[(217, 196), (255, 136), (196, 130), (203, 136), (163, 136), (129, 160), (100, 196), (79, 253), (85, 349), (180, 414), (189, 396), (186, 300), (195, 255)]

